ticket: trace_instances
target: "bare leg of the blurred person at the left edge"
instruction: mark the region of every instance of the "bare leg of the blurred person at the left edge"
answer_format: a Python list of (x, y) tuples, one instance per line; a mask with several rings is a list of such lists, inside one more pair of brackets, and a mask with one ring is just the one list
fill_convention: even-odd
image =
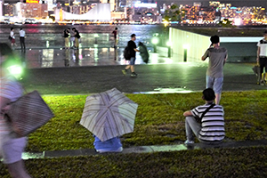
[(31, 176), (27, 173), (23, 160), (17, 161), (12, 164), (6, 165), (8, 168), (9, 174), (11, 174), (12, 178), (31, 178)]

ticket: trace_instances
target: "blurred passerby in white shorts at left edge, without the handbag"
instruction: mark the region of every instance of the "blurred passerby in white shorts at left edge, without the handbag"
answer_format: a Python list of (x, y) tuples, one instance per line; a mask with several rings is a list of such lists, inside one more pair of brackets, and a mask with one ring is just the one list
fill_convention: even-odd
[(23, 93), (20, 83), (8, 71), (10, 61), (14, 59), (12, 49), (7, 44), (0, 44), (0, 156), (12, 177), (29, 178), (21, 159), (27, 137), (17, 137), (12, 131), (11, 123), (4, 119), (7, 105), (18, 100)]

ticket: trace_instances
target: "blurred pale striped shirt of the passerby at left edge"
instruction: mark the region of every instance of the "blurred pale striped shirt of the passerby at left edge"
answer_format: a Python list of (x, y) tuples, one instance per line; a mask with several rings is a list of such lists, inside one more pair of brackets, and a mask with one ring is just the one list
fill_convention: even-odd
[[(16, 101), (20, 98), (22, 93), (22, 87), (15, 78), (0, 78), (0, 97), (7, 98), (10, 101)], [(10, 125), (4, 120), (4, 116), (0, 114), (0, 134), (7, 134), (9, 132), (11, 132)]]

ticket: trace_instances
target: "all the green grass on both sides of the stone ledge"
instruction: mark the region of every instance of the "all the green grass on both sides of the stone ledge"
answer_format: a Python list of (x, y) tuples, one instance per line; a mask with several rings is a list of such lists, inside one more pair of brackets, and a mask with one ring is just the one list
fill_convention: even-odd
[[(266, 139), (267, 91), (223, 93), (226, 139)], [(124, 147), (163, 145), (185, 140), (182, 113), (203, 104), (201, 93), (127, 94), (139, 104), (134, 133)], [(93, 148), (93, 136), (79, 120), (86, 96), (44, 96), (55, 117), (28, 136), (28, 151)], [(171, 135), (171, 136), (170, 136)], [(266, 177), (267, 147), (103, 154), (86, 157), (28, 159), (33, 177)], [(0, 164), (0, 177), (10, 177)]]

